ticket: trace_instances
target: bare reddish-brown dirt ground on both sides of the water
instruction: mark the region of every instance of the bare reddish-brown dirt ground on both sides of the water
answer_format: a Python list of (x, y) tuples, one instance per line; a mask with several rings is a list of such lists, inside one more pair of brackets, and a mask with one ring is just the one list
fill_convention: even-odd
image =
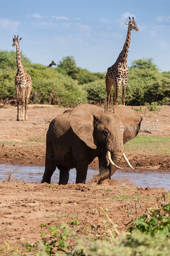
[[(144, 112), (140, 113), (144, 117), (142, 125), (150, 125), (152, 128), (159, 126), (159, 129), (152, 130), (151, 133), (139, 132), (138, 136), (168, 136), (170, 107), (162, 106), (159, 112), (144, 109), (146, 108), (142, 107)], [(29, 105), (28, 121), (17, 122), (16, 107), (1, 108), (0, 163), (44, 165), (45, 138), (49, 123), (64, 110), (65, 108), (50, 105)], [(142, 151), (138, 157), (135, 151), (127, 156), (135, 168), (149, 166), (153, 169), (152, 166), (157, 166), (165, 170), (170, 167), (168, 156), (145, 156)], [(121, 166), (127, 169), (126, 163), (123, 162)], [(90, 167), (98, 168), (98, 160), (94, 159)], [(136, 198), (140, 201), (137, 216), (141, 216), (146, 207), (156, 207), (157, 197), (162, 192), (167, 197), (170, 196), (163, 188), (72, 183), (59, 186), (0, 181), (0, 248), (7, 251), (19, 249), (21, 252), (21, 244), (41, 240), (42, 224), (47, 224), (43, 228), (45, 232), (48, 227), (62, 222), (70, 225), (72, 220), (80, 222), (77, 232), (93, 237), (91, 225), (101, 222), (99, 207), (109, 209), (108, 215), (118, 225), (118, 230), (126, 230), (126, 224), (136, 218)], [(83, 227), (90, 229), (88, 234)], [(5, 252), (0, 249), (0, 255), (6, 255)]]

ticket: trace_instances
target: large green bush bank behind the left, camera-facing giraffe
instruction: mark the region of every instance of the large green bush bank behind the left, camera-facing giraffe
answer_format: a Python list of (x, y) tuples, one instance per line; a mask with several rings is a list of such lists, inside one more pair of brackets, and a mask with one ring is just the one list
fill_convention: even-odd
[[(16, 53), (0, 51), (0, 93), (3, 99), (15, 98), (15, 76), (17, 73)], [(74, 107), (86, 103), (86, 92), (78, 82), (63, 75), (56, 68), (47, 68), (41, 64), (33, 64), (21, 53), (26, 71), (31, 75), (33, 89), (30, 95), (32, 103), (58, 104)]]

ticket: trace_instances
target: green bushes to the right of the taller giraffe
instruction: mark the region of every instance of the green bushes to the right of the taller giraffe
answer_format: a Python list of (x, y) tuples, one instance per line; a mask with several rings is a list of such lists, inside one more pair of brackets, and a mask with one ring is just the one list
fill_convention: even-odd
[(169, 104), (170, 73), (160, 73), (152, 59), (135, 60), (132, 64), (126, 88), (127, 104), (137, 106), (154, 101)]

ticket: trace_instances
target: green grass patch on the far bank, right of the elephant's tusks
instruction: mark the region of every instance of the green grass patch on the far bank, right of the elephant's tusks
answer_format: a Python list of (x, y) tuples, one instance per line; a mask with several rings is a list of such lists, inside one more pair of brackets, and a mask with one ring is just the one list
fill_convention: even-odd
[(142, 155), (161, 156), (170, 153), (169, 137), (137, 136), (124, 145), (126, 153), (140, 153)]

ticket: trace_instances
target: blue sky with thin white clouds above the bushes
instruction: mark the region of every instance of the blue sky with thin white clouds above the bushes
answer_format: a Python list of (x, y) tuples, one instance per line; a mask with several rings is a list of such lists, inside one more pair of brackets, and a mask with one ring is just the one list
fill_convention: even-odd
[(79, 67), (104, 72), (122, 51), (129, 16), (135, 17), (139, 31), (132, 30), (128, 66), (147, 57), (169, 71), (168, 0), (1, 1), (0, 48), (14, 50), (11, 37), (18, 35), (20, 49), (33, 62), (48, 65), (73, 55)]

